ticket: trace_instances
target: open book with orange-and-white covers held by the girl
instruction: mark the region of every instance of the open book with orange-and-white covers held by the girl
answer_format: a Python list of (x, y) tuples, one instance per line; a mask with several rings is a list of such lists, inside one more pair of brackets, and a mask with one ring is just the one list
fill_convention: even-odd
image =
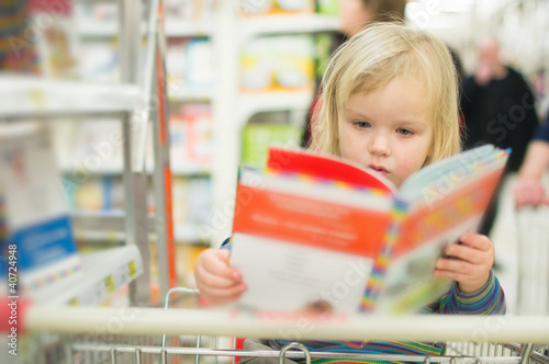
[(283, 311), (415, 311), (448, 291), (435, 261), (478, 228), (509, 151), (478, 147), (396, 189), (340, 159), (271, 147), (238, 178), (231, 265), (238, 305)]

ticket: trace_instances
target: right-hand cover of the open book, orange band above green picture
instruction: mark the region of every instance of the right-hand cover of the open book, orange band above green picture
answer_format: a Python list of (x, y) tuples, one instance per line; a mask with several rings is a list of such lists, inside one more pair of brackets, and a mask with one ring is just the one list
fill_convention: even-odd
[(435, 262), (461, 234), (477, 231), (500, 181), (506, 158), (494, 159), (436, 200), (414, 201), (392, 244), (392, 259), (376, 310), (410, 312), (445, 294), (450, 280), (435, 277)]

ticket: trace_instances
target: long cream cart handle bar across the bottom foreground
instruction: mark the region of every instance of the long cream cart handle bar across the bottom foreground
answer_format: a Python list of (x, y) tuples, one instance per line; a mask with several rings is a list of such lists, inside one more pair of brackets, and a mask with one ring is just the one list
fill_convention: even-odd
[(549, 342), (549, 316), (311, 315), (234, 309), (30, 306), (23, 330), (287, 340)]

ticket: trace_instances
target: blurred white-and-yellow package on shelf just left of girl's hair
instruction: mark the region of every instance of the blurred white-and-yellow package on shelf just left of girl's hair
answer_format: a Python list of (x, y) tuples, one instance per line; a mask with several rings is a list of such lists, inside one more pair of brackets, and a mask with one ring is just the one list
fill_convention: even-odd
[(243, 91), (312, 89), (313, 79), (312, 36), (259, 37), (242, 54)]

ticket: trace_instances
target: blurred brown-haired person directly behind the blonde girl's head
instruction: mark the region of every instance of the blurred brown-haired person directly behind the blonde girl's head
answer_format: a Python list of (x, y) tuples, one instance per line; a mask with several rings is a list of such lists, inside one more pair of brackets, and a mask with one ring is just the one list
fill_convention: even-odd
[[(404, 22), (406, 0), (340, 0), (339, 30), (330, 39), (329, 54), (343, 45), (348, 38), (359, 33), (370, 22)], [(313, 101), (303, 130), (302, 146), (311, 143), (311, 127), (314, 112), (318, 107), (320, 83), (322, 75), (316, 78), (316, 96)]]

